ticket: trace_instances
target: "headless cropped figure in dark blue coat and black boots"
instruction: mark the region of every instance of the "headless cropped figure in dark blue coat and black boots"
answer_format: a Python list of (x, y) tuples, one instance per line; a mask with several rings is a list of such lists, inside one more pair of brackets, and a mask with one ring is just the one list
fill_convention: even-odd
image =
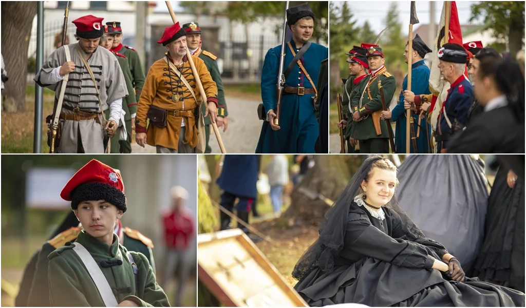
[[(261, 156), (259, 155), (226, 155), (223, 161), (221, 175), (217, 179), (217, 185), (223, 191), (220, 204), (225, 209), (232, 212), (235, 206), (237, 217), (248, 224), (248, 214), (255, 205), (258, 198), (256, 183), (259, 177), (259, 166)], [(230, 229), (230, 216), (220, 213), (221, 230)], [(252, 237), (248, 229), (238, 224), (252, 241), (256, 242), (260, 238)]]

